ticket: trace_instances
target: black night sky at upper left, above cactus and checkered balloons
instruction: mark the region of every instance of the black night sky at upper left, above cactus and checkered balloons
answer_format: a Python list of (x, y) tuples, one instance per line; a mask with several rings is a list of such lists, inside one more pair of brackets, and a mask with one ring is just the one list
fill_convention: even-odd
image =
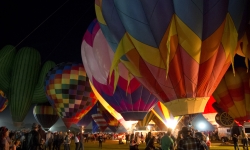
[(0, 12), (0, 48), (33, 47), (42, 63), (81, 62), (82, 37), (95, 18), (94, 0), (1, 0)]

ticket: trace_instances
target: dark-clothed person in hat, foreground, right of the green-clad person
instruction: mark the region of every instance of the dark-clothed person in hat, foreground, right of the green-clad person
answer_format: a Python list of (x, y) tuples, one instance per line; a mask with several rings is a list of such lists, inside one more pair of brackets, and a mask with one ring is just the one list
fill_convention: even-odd
[(177, 145), (177, 150), (204, 150), (198, 138), (191, 136), (191, 130), (187, 127), (182, 127), (182, 136)]

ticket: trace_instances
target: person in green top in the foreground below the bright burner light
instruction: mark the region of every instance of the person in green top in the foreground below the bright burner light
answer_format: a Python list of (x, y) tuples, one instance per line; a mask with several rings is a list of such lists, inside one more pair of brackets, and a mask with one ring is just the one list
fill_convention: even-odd
[(168, 129), (167, 133), (161, 138), (161, 149), (162, 150), (173, 150), (174, 141), (171, 138), (172, 130)]

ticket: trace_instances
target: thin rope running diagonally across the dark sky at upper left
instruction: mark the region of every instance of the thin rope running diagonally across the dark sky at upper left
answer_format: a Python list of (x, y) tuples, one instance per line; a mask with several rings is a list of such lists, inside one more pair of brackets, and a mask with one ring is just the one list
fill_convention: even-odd
[[(61, 9), (69, 0), (64, 2), (59, 8), (57, 8), (52, 14), (50, 14), (45, 20), (43, 20), (35, 29), (33, 29), (26, 37), (24, 37), (13, 49), (6, 53), (3, 57), (5, 58), (10, 52), (12, 52), (17, 46), (19, 46), (24, 40), (26, 40), (32, 33), (34, 33), (40, 26), (42, 26), (50, 17), (52, 17), (59, 9)], [(1, 60), (2, 60), (1, 59)], [(1, 61), (0, 60), (0, 61)]]

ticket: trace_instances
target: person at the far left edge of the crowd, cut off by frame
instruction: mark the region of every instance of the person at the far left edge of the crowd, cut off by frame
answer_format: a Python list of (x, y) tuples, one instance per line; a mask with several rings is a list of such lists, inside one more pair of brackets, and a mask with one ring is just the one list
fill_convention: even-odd
[(7, 140), (9, 137), (9, 130), (6, 127), (0, 128), (0, 150), (9, 150), (10, 144)]

